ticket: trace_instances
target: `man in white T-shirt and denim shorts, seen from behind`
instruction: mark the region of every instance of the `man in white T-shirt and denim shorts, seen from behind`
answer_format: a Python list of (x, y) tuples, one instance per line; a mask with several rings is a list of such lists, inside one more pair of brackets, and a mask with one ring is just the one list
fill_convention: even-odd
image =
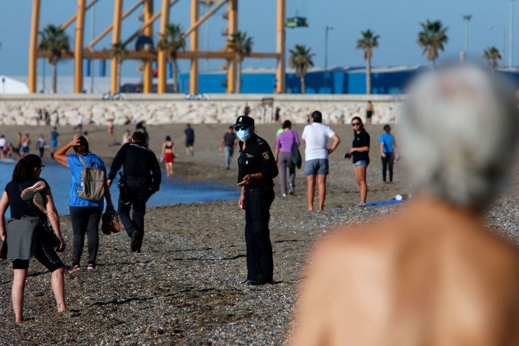
[[(328, 155), (339, 145), (340, 138), (329, 126), (322, 124), (322, 114), (316, 110), (312, 113), (310, 125), (303, 131), (305, 148), (305, 176), (307, 181), (306, 199), (308, 210), (313, 211), (313, 194), (315, 193), (316, 178), (319, 185), (319, 210), (324, 208), (326, 196), (326, 176), (328, 175)], [(333, 144), (328, 148), (328, 139)]]

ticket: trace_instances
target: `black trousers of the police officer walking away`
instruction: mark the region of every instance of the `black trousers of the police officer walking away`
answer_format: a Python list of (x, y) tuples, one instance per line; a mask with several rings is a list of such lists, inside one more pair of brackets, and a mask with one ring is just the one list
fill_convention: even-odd
[[(140, 180), (126, 179), (126, 186), (120, 189), (119, 205), (117, 212), (126, 233), (132, 236), (135, 229), (144, 234), (144, 214), (146, 213), (146, 201), (149, 198), (149, 186)], [(130, 217), (130, 210), (132, 216)]]

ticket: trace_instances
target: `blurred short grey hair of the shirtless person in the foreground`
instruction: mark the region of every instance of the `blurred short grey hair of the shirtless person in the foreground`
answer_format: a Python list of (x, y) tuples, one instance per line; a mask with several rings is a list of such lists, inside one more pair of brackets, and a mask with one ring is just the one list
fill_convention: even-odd
[(410, 90), (401, 136), (414, 188), (461, 207), (486, 207), (515, 158), (513, 86), (462, 66), (424, 74)]

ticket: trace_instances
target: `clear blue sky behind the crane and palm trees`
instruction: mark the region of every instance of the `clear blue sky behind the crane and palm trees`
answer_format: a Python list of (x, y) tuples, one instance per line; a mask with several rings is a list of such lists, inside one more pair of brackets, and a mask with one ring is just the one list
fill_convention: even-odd
[[(129, 8), (136, 0), (125, 0), (124, 8)], [(254, 39), (255, 51), (275, 51), (276, 47), (276, 0), (239, 0), (240, 30), (248, 32)], [(15, 76), (27, 75), (29, 30), (31, 20), (31, 0), (0, 0), (0, 74)], [(427, 19), (441, 20), (449, 27), (450, 38), (445, 52), (440, 56), (440, 63), (455, 60), (463, 50), (465, 23), (461, 15), (471, 13), (474, 17), (469, 28), (469, 58), (476, 62), (481, 59), (482, 50), (495, 45), (500, 50), (503, 46), (503, 31), (506, 32), (506, 53), (502, 54), (508, 65), (509, 35), (509, 0), (287, 0), (287, 15), (308, 17), (308, 28), (287, 29), (287, 49), (295, 44), (304, 44), (316, 54), (316, 66), (324, 66), (324, 31), (325, 26), (333, 26), (329, 35), (329, 66), (363, 65), (362, 52), (354, 49), (360, 31), (367, 28), (381, 35), (379, 48), (373, 57), (374, 66), (396, 66), (428, 64), (416, 44), (420, 29), (419, 22)], [(189, 0), (179, 0), (170, 12), (170, 21), (181, 23), (184, 29), (189, 27)], [(75, 0), (42, 0), (40, 28), (46, 24), (60, 24), (71, 17), (76, 9)], [(95, 34), (99, 34), (113, 18), (113, 0), (100, 0), (95, 5)], [(160, 0), (154, 2), (155, 11), (160, 8)], [(225, 21), (221, 19), (223, 6), (211, 17), (209, 40), (206, 38), (207, 27), (201, 27), (201, 45), (209, 49), (220, 50), (225, 45), (221, 35)], [(203, 13), (204, 8), (201, 7)], [(140, 10), (128, 17), (122, 25), (122, 37), (130, 36), (138, 27)], [(519, 1), (514, 5), (514, 65), (519, 63)], [(155, 36), (158, 23), (154, 27)], [(90, 11), (86, 15), (85, 45), (90, 41)], [(73, 46), (74, 24), (67, 29)], [(97, 49), (110, 47), (111, 34), (108, 34)], [(38, 63), (38, 68), (42, 63)], [(213, 60), (210, 69), (217, 69), (222, 61)], [(135, 68), (137, 62), (123, 64), (123, 75), (140, 76)], [(275, 67), (274, 60), (246, 59), (244, 67)], [(207, 69), (206, 61), (201, 62), (201, 70)], [(188, 71), (187, 62), (180, 63), (181, 73)], [(50, 74), (50, 68), (46, 69)], [(96, 65), (97, 71), (97, 65)], [(73, 61), (63, 62), (58, 68), (59, 75), (73, 74)], [(40, 74), (40, 71), (38, 71)]]

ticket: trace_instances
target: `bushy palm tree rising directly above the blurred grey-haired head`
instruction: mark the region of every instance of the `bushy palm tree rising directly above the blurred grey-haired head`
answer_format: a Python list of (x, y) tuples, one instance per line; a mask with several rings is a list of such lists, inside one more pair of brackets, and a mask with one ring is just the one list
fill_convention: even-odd
[(445, 50), (444, 45), (449, 41), (447, 36), (448, 27), (444, 27), (442, 21), (430, 21), (420, 23), (422, 31), (418, 33), (418, 46), (424, 47), (422, 55), (427, 53), (427, 59), (431, 61), (432, 66), (438, 59), (438, 51)]

